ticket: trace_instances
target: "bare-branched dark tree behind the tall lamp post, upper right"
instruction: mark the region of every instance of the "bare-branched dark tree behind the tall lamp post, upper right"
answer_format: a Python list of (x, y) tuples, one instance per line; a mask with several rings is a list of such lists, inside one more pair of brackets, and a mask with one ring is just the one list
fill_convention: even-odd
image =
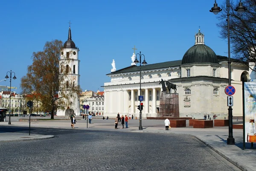
[[(243, 0), (247, 11), (239, 14), (235, 11), (239, 1), (230, 1), (230, 44), (233, 58), (256, 64), (256, 0)], [(226, 3), (221, 5), (222, 12), (217, 14), (221, 28), (221, 38), (227, 39), (227, 8)], [(254, 68), (251, 68), (254, 70)]]

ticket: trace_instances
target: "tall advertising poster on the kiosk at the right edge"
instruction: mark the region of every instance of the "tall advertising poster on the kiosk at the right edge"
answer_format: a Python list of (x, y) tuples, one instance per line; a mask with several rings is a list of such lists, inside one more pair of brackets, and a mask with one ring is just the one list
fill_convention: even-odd
[(256, 142), (256, 82), (244, 82), (245, 142)]

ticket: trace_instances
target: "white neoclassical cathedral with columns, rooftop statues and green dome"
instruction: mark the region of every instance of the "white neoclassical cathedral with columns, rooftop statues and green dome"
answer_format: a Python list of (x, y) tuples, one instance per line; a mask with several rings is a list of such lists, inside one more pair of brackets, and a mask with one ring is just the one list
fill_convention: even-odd
[[(177, 86), (180, 117), (201, 119), (205, 114), (227, 117), (227, 95), (224, 93), (228, 85), (227, 62), (227, 57), (216, 55), (204, 44), (204, 34), (199, 29), (194, 46), (186, 51), (182, 60), (141, 66), (142, 117), (158, 116), (162, 92), (159, 82), (162, 78)], [(138, 117), (140, 66), (132, 63), (129, 67), (116, 70), (112, 63), (112, 67), (111, 73), (107, 74), (111, 81), (102, 86), (105, 89), (104, 115), (116, 116), (120, 113)], [(231, 85), (236, 88), (233, 116), (242, 116), (241, 79), (247, 81), (254, 77), (255, 73), (249, 71), (249, 67), (231, 58)]]

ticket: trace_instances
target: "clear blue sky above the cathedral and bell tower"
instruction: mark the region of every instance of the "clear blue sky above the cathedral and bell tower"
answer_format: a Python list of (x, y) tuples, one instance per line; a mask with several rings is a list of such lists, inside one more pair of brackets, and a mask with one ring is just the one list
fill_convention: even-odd
[[(221, 6), (224, 0), (218, 0)], [(71, 21), (72, 40), (79, 47), (80, 84), (84, 90), (103, 91), (106, 74), (131, 65), (134, 45), (148, 64), (181, 60), (194, 45), (201, 26), (205, 44), (227, 56), (227, 41), (219, 38), (219, 21), (209, 12), (214, 0), (12, 0), (1, 2), (0, 80), (7, 71), (17, 79), (32, 64), (33, 52), (46, 41), (65, 42)], [(2, 81), (0, 85), (10, 85)]]

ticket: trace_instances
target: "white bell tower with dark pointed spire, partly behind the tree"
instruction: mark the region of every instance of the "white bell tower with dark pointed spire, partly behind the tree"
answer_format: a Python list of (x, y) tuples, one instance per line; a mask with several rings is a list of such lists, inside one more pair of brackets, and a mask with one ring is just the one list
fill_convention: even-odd
[[(60, 66), (64, 66), (67, 77), (65, 78), (64, 82), (69, 87), (70, 84), (72, 84), (73, 87), (79, 85), (80, 81), (80, 74), (79, 74), (79, 59), (78, 59), (78, 53), (79, 49), (76, 47), (75, 43), (72, 41), (71, 38), (71, 29), (69, 27), (68, 30), (68, 39), (64, 43), (64, 47), (61, 50), (61, 58), (60, 58)], [(68, 90), (61, 90), (65, 91), (67, 93)], [(58, 92), (58, 96), (61, 97), (61, 91)], [(66, 107), (70, 107), (70, 109), (73, 109), (75, 111), (75, 115), (80, 115), (80, 109), (79, 109), (79, 97), (76, 95), (76, 93), (72, 93), (70, 96), (72, 98), (72, 101), (70, 104), (65, 104)], [(65, 116), (65, 110), (58, 109), (57, 110), (57, 116)]]

